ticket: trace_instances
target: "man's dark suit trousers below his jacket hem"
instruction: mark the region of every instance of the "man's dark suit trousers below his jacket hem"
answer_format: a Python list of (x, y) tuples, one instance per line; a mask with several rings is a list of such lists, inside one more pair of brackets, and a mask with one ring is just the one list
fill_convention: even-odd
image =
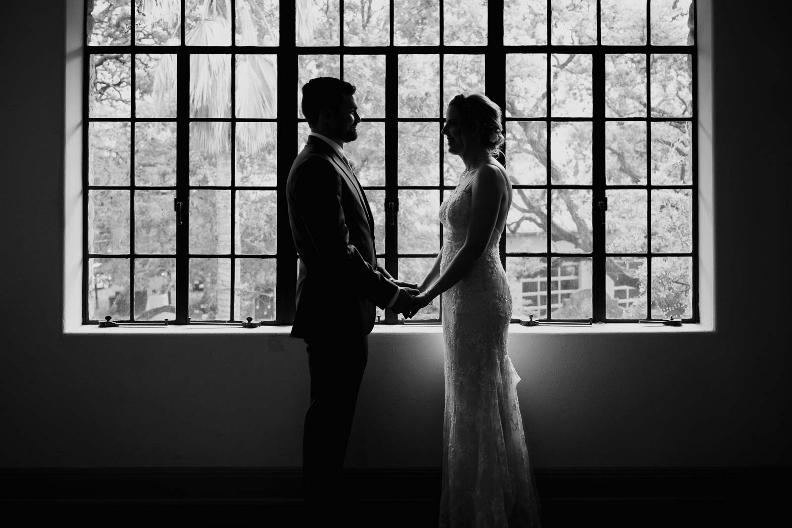
[(307, 340), (310, 406), (303, 430), (303, 484), (309, 515), (343, 508), (341, 472), (368, 358), (368, 336)]

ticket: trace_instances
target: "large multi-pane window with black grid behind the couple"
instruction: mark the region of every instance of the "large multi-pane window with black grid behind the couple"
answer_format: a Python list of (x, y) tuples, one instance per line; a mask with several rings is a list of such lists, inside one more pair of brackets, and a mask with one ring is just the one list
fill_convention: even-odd
[(84, 319), (288, 324), (299, 88), (332, 75), (392, 274), (440, 251), (447, 103), (485, 93), (515, 320), (697, 321), (694, 21), (689, 0), (88, 0)]

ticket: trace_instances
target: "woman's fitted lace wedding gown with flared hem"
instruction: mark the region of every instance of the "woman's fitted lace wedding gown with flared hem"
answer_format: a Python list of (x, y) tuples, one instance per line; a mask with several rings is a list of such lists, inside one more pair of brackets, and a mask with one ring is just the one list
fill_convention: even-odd
[[(465, 242), (470, 185), (440, 206), (441, 272)], [(473, 269), (443, 294), (445, 419), (440, 526), (539, 526), (539, 503), (506, 354), (512, 296), (494, 230)]]

